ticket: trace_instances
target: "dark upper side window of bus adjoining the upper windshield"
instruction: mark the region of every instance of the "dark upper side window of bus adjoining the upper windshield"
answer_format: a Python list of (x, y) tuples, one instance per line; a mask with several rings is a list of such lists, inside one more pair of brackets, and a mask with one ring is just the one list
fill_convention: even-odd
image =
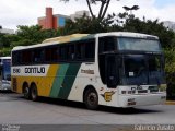
[(100, 53), (115, 50), (115, 37), (100, 37)]

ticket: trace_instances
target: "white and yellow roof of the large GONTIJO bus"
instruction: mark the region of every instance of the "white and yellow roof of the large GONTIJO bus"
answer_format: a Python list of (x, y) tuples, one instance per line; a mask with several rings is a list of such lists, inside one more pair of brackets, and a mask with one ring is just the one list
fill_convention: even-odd
[(67, 36), (60, 36), (55, 38), (48, 38), (44, 40), (42, 44), (32, 45), (32, 46), (18, 46), (12, 49), (22, 50), (35, 47), (44, 47), (48, 45), (62, 44), (68, 41), (77, 41), (83, 39), (90, 39), (94, 37), (103, 37), (103, 36), (119, 36), (119, 37), (135, 37), (135, 38), (149, 38), (149, 39), (159, 39), (159, 37), (153, 35), (140, 34), (140, 33), (129, 33), (129, 32), (110, 32), (110, 33), (98, 33), (98, 34), (72, 34)]

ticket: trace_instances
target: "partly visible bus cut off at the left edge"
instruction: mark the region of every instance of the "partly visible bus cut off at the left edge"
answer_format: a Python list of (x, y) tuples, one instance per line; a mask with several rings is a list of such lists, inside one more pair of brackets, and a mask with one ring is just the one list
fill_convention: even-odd
[(11, 57), (0, 57), (0, 91), (11, 91)]

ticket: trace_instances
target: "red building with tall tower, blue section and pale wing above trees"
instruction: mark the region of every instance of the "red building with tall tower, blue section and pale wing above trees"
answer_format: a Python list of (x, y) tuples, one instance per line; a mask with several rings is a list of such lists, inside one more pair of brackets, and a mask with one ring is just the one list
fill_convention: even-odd
[(70, 16), (52, 14), (52, 8), (46, 8), (46, 16), (38, 17), (38, 25), (42, 25), (44, 29), (56, 29), (58, 27), (63, 27), (67, 20), (81, 17), (84, 13), (89, 16), (88, 11), (78, 11), (75, 14), (71, 14)]

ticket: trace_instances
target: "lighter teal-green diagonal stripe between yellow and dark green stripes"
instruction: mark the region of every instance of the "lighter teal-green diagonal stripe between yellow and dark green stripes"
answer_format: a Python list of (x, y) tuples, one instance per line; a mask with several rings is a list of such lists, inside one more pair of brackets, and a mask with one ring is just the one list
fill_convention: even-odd
[(66, 76), (66, 72), (69, 68), (69, 64), (60, 64), (60, 68), (57, 71), (56, 78), (54, 80), (54, 84), (50, 92), (50, 97), (58, 97), (59, 91), (61, 88), (63, 79)]

